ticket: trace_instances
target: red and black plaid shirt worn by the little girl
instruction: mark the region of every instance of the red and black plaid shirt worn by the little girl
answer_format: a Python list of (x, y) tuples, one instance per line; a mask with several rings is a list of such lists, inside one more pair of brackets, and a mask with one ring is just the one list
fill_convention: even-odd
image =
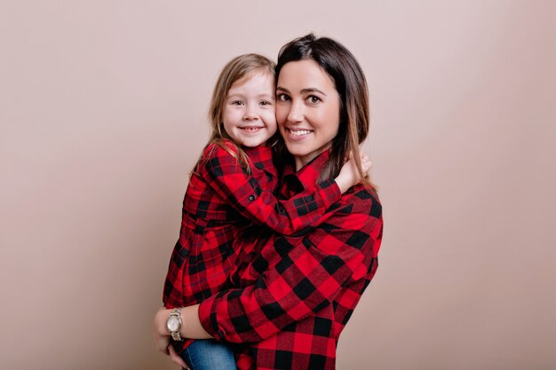
[[(272, 150), (246, 149), (251, 175), (239, 164), (231, 142), (210, 145), (191, 177), (183, 203), (179, 240), (172, 252), (164, 283), (167, 308), (200, 303), (218, 293), (234, 266), (233, 241), (250, 222), (291, 234), (319, 221), (325, 209), (341, 197), (333, 180), (311, 193), (278, 201), (272, 191), (276, 172)], [(183, 350), (190, 341), (176, 343)]]

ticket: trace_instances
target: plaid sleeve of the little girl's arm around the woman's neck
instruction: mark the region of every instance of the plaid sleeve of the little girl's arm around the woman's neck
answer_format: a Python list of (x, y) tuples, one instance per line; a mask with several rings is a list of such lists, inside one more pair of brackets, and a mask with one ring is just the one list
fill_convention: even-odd
[(289, 200), (278, 200), (274, 189), (263, 189), (246, 173), (234, 155), (221, 146), (210, 150), (200, 168), (201, 175), (219, 196), (250, 221), (265, 224), (274, 232), (291, 235), (314, 225), (342, 193), (333, 179), (299, 193)]

